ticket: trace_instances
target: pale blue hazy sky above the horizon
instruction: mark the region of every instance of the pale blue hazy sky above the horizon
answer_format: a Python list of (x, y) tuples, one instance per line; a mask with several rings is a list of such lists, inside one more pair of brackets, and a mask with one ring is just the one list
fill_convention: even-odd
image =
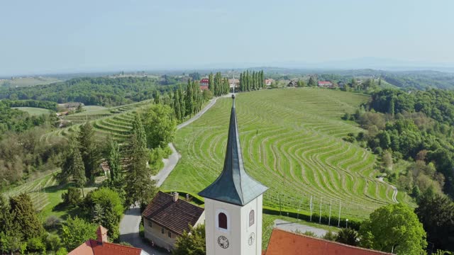
[(454, 1), (0, 0), (0, 75), (327, 62), (454, 63)]

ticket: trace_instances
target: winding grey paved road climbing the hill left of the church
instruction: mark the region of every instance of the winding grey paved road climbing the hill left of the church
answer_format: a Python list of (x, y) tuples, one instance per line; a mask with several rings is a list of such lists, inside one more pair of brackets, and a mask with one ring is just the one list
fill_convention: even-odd
[[(227, 94), (224, 97), (231, 96), (231, 94)], [(186, 127), (187, 125), (193, 123), (195, 120), (200, 118), (201, 115), (206, 113), (206, 111), (214, 106), (218, 98), (213, 98), (211, 101), (201, 110), (199, 113), (194, 115), (194, 117), (190, 118), (189, 120), (185, 121), (184, 123), (177, 126), (177, 130)], [(181, 155), (177, 152), (175, 147), (172, 143), (169, 144), (170, 149), (172, 149), (172, 154), (168, 159), (163, 159), (164, 167), (157, 173), (157, 175), (152, 176), (152, 179), (156, 181), (156, 186), (160, 187), (162, 183), (167, 179), (170, 172), (177, 166)], [(143, 242), (143, 240), (139, 237), (139, 225), (140, 225), (140, 208), (137, 206), (133, 206), (125, 211), (125, 215), (120, 222), (120, 241), (121, 242), (128, 242), (133, 246), (143, 249), (143, 251), (148, 252), (150, 255), (164, 255), (167, 254), (163, 251), (157, 250), (150, 245)]]

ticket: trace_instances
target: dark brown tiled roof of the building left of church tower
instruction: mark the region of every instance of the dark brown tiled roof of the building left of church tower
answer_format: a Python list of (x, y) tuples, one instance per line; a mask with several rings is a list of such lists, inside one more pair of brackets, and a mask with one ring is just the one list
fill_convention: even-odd
[(173, 196), (158, 191), (142, 216), (172, 232), (183, 234), (184, 230), (189, 231), (188, 225), (196, 224), (203, 212), (204, 208), (199, 208), (182, 199), (174, 202)]

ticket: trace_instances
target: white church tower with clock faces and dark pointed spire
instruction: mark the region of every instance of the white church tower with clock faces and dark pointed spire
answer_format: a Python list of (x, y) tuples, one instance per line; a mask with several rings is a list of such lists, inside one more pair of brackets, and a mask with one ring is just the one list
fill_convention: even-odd
[(218, 179), (199, 193), (205, 198), (207, 255), (262, 254), (262, 194), (268, 189), (246, 174), (240, 148), (235, 95), (226, 159)]

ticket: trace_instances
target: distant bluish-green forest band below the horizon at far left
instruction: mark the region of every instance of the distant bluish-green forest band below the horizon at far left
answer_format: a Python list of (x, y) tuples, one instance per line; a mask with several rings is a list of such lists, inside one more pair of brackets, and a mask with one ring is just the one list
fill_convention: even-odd
[(153, 98), (155, 91), (171, 91), (179, 81), (166, 75), (148, 77), (85, 77), (55, 84), (0, 89), (0, 99), (80, 102), (90, 106), (120, 106)]

